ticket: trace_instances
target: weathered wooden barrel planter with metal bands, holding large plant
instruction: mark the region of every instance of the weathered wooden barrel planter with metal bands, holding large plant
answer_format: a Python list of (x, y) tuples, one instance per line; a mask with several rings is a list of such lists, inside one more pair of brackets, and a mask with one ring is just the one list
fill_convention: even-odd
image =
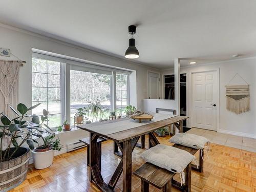
[[(10, 149), (12, 153), (15, 148)], [(20, 147), (9, 161), (0, 162), (0, 191), (10, 189), (22, 183), (27, 176), (29, 164), (29, 148)]]

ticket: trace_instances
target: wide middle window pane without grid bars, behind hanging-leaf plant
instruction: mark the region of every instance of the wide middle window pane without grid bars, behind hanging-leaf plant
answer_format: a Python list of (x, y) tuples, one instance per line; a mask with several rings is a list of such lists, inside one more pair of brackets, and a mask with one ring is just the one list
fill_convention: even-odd
[[(78, 108), (88, 108), (91, 103), (98, 104), (101, 114), (88, 111), (91, 121), (108, 119), (111, 109), (111, 75), (70, 70), (70, 122), (74, 124), (75, 112)], [(95, 110), (94, 110), (95, 111)], [(94, 113), (97, 113), (95, 111)], [(97, 117), (96, 117), (97, 116)]]

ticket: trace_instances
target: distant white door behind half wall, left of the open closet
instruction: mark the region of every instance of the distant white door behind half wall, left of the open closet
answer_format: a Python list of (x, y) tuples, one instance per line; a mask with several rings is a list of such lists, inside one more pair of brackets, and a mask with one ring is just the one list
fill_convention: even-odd
[(159, 99), (159, 81), (160, 77), (157, 73), (148, 72), (148, 98)]

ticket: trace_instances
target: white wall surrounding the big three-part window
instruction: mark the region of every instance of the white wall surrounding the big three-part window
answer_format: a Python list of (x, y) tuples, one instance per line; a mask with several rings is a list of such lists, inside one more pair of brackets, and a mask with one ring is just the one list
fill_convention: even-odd
[[(137, 63), (83, 49), (62, 41), (19, 30), (3, 24), (0, 24), (0, 47), (11, 49), (13, 54), (27, 62), (24, 67), (20, 68), (18, 100), (28, 106), (32, 104), (32, 48), (102, 63), (104, 65), (134, 70), (130, 77), (130, 87), (133, 88), (130, 91), (130, 103), (137, 106), (138, 109), (141, 108), (141, 99), (147, 98), (147, 70), (160, 72), (152, 68), (141, 66)], [(0, 56), (0, 59), (16, 58)], [(66, 147), (66, 143), (71, 143), (79, 140), (79, 138), (86, 137), (88, 136), (88, 133), (85, 131), (74, 131), (72, 134), (63, 133), (58, 136), (61, 143)]]

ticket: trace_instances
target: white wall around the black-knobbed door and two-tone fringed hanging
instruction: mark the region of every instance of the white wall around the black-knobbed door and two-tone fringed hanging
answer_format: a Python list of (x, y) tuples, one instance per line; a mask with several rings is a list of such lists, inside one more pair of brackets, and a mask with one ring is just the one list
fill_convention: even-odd
[[(187, 110), (189, 116), (190, 103), (190, 82), (191, 72), (207, 70), (220, 70), (220, 116), (218, 132), (256, 138), (256, 58), (236, 59), (211, 63), (209, 65), (195, 65), (181, 68), (180, 73), (187, 74)], [(239, 73), (250, 84), (250, 111), (236, 115), (226, 110), (226, 84), (236, 74)], [(163, 74), (173, 74), (173, 69), (162, 71)], [(230, 84), (244, 84), (239, 77), (233, 79)]]

